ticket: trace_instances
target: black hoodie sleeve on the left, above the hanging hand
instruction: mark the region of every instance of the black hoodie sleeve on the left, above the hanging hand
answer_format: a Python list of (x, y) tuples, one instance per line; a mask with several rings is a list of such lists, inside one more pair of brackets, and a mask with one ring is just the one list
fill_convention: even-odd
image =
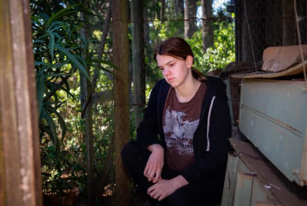
[(160, 144), (158, 139), (157, 106), (159, 86), (157, 83), (151, 90), (144, 118), (137, 129), (137, 143), (144, 149), (152, 144)]

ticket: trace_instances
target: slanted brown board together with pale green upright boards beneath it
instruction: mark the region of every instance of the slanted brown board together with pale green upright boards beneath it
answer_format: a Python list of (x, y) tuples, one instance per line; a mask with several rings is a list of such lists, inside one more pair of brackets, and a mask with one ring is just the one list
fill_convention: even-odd
[(230, 139), (221, 206), (307, 205), (307, 188), (288, 181), (257, 148)]

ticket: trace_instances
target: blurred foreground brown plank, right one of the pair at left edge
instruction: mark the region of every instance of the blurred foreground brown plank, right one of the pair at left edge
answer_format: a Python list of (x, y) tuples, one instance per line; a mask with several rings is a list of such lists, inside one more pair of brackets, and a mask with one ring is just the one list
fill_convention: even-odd
[[(9, 1), (23, 205), (41, 202), (40, 155), (29, 1)], [(18, 47), (17, 47), (18, 45)], [(12, 91), (11, 91), (12, 92)]]

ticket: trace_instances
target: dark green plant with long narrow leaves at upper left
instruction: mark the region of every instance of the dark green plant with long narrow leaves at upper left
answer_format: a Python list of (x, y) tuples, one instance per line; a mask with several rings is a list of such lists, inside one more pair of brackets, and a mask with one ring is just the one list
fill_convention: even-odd
[[(32, 3), (33, 10), (37, 7)], [(69, 91), (68, 78), (78, 70), (90, 79), (82, 58), (84, 41), (78, 33), (82, 24), (77, 21), (77, 12), (75, 6), (68, 6), (50, 16), (41, 11), (32, 13), (40, 136), (48, 133), (56, 151), (59, 150), (56, 124), (62, 131), (61, 140), (66, 133), (64, 119), (58, 112), (64, 102), (59, 101), (57, 91), (63, 90), (75, 99)]]

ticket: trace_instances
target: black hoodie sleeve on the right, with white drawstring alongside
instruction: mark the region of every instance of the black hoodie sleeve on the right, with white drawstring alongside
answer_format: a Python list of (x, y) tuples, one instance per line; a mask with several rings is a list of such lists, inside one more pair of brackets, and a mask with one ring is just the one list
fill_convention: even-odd
[[(223, 89), (225, 90), (225, 89)], [(203, 144), (196, 144), (198, 158), (182, 175), (188, 182), (199, 181), (208, 177), (225, 175), (227, 165), (228, 139), (231, 136), (231, 120), (228, 99), (224, 92), (214, 96), (211, 111), (208, 107), (204, 118), (206, 129), (202, 130), (198, 138)], [(212, 101), (211, 99), (211, 101)], [(210, 104), (210, 103), (209, 103)], [(209, 115), (210, 113), (210, 115)], [(209, 122), (207, 121), (209, 115)], [(207, 129), (209, 124), (209, 130)], [(207, 143), (207, 144), (205, 144)]]

